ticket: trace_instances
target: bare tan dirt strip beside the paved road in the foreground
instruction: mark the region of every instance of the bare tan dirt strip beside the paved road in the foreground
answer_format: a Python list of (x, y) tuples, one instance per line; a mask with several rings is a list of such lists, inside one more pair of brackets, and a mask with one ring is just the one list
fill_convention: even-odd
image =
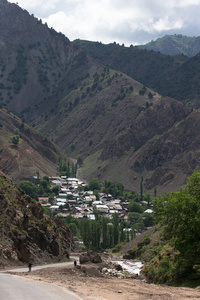
[(43, 269), (21, 275), (64, 286), (85, 300), (200, 299), (198, 289), (147, 284), (136, 279), (95, 277), (73, 267)]

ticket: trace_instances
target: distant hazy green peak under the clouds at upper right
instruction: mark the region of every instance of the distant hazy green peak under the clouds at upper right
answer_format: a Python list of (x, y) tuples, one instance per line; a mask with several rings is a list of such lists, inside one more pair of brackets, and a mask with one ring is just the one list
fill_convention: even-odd
[(200, 37), (188, 37), (181, 34), (166, 35), (156, 41), (151, 41), (138, 47), (167, 55), (184, 54), (192, 57), (200, 52)]

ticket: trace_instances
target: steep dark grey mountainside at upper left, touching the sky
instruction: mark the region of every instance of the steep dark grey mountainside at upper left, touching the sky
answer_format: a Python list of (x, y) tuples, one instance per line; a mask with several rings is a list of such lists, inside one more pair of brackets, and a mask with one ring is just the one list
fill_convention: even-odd
[(63, 34), (6, 0), (0, 2), (0, 45), (1, 103), (26, 113), (29, 123), (41, 106), (66, 96), (90, 69), (86, 55)]

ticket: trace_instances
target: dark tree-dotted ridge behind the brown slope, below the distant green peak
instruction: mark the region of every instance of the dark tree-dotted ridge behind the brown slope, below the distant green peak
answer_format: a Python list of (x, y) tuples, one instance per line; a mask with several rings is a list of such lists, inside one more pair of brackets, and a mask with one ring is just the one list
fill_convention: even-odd
[(116, 43), (74, 42), (94, 59), (118, 70), (153, 89), (184, 104), (199, 107), (200, 56), (169, 56), (137, 46), (124, 47)]

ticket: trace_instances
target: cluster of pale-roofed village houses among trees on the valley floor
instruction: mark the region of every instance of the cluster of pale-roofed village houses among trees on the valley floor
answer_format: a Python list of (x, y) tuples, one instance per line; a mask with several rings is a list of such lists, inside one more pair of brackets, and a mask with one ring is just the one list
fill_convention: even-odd
[[(77, 178), (50, 177), (51, 186), (58, 186), (59, 193), (53, 201), (49, 197), (38, 197), (38, 201), (43, 207), (48, 208), (53, 215), (67, 217), (69, 214), (75, 218), (95, 220), (94, 211), (100, 215), (112, 219), (113, 214), (126, 220), (129, 211), (129, 201), (115, 199), (110, 194), (99, 193), (99, 199), (94, 192), (84, 191), (85, 183)], [(147, 207), (147, 201), (141, 201), (140, 205)], [(152, 214), (152, 204), (144, 210), (144, 213)]]

